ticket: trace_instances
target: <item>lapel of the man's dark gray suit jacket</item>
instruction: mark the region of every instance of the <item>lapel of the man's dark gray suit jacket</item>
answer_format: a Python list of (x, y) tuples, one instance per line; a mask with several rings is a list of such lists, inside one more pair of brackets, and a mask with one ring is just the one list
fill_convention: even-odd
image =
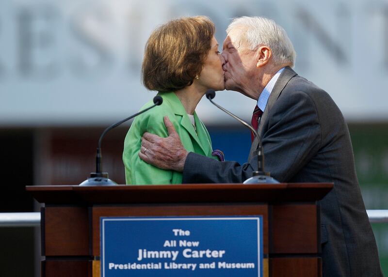
[[(277, 98), (279, 98), (281, 92), (283, 91), (287, 83), (291, 80), (292, 77), (296, 75), (296, 72), (293, 71), (291, 67), (286, 66), (280, 74), (279, 78), (277, 79), (274, 89), (272, 90), (270, 97), (268, 98), (267, 106), (265, 107), (265, 110), (261, 115), (261, 118), (259, 119), (258, 134), (261, 139), (263, 138), (263, 128), (268, 123), (268, 116), (271, 111), (271, 108), (274, 106)], [(253, 140), (251, 150), (249, 152), (248, 162), (253, 158), (254, 154), (256, 153), (258, 144), (259, 140), (255, 138)]]

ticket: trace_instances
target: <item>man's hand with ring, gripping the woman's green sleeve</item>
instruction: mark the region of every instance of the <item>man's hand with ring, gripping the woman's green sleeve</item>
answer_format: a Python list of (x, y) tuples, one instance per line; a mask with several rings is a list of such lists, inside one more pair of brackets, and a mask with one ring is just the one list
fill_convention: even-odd
[(167, 116), (164, 117), (164, 125), (168, 131), (167, 138), (161, 138), (148, 132), (143, 134), (139, 157), (160, 169), (182, 172), (189, 153), (183, 147), (173, 123)]

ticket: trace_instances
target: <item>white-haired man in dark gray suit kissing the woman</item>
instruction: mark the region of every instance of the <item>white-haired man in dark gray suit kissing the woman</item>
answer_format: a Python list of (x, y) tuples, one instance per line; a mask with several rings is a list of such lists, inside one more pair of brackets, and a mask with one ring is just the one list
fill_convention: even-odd
[[(323, 276), (382, 276), (339, 108), (291, 69), (295, 51), (273, 20), (237, 18), (226, 32), (226, 89), (258, 100), (252, 125), (262, 138), (266, 170), (280, 182), (334, 183), (320, 201)], [(157, 167), (183, 171), (183, 183), (241, 183), (257, 169), (257, 139), (249, 163), (219, 162), (187, 153), (167, 118), (165, 125), (169, 137), (145, 133), (139, 156)]]

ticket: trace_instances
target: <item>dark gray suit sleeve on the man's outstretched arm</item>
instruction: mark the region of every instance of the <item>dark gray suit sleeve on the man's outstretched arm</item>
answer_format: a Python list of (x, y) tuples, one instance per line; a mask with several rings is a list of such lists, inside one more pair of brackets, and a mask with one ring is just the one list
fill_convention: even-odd
[[(305, 92), (280, 94), (269, 111), (262, 144), (265, 171), (279, 182), (288, 182), (311, 157), (321, 142), (321, 130), (314, 102)], [(267, 124), (265, 123), (265, 124)], [(190, 153), (183, 183), (242, 183), (257, 169), (257, 155), (249, 163), (218, 162)]]

